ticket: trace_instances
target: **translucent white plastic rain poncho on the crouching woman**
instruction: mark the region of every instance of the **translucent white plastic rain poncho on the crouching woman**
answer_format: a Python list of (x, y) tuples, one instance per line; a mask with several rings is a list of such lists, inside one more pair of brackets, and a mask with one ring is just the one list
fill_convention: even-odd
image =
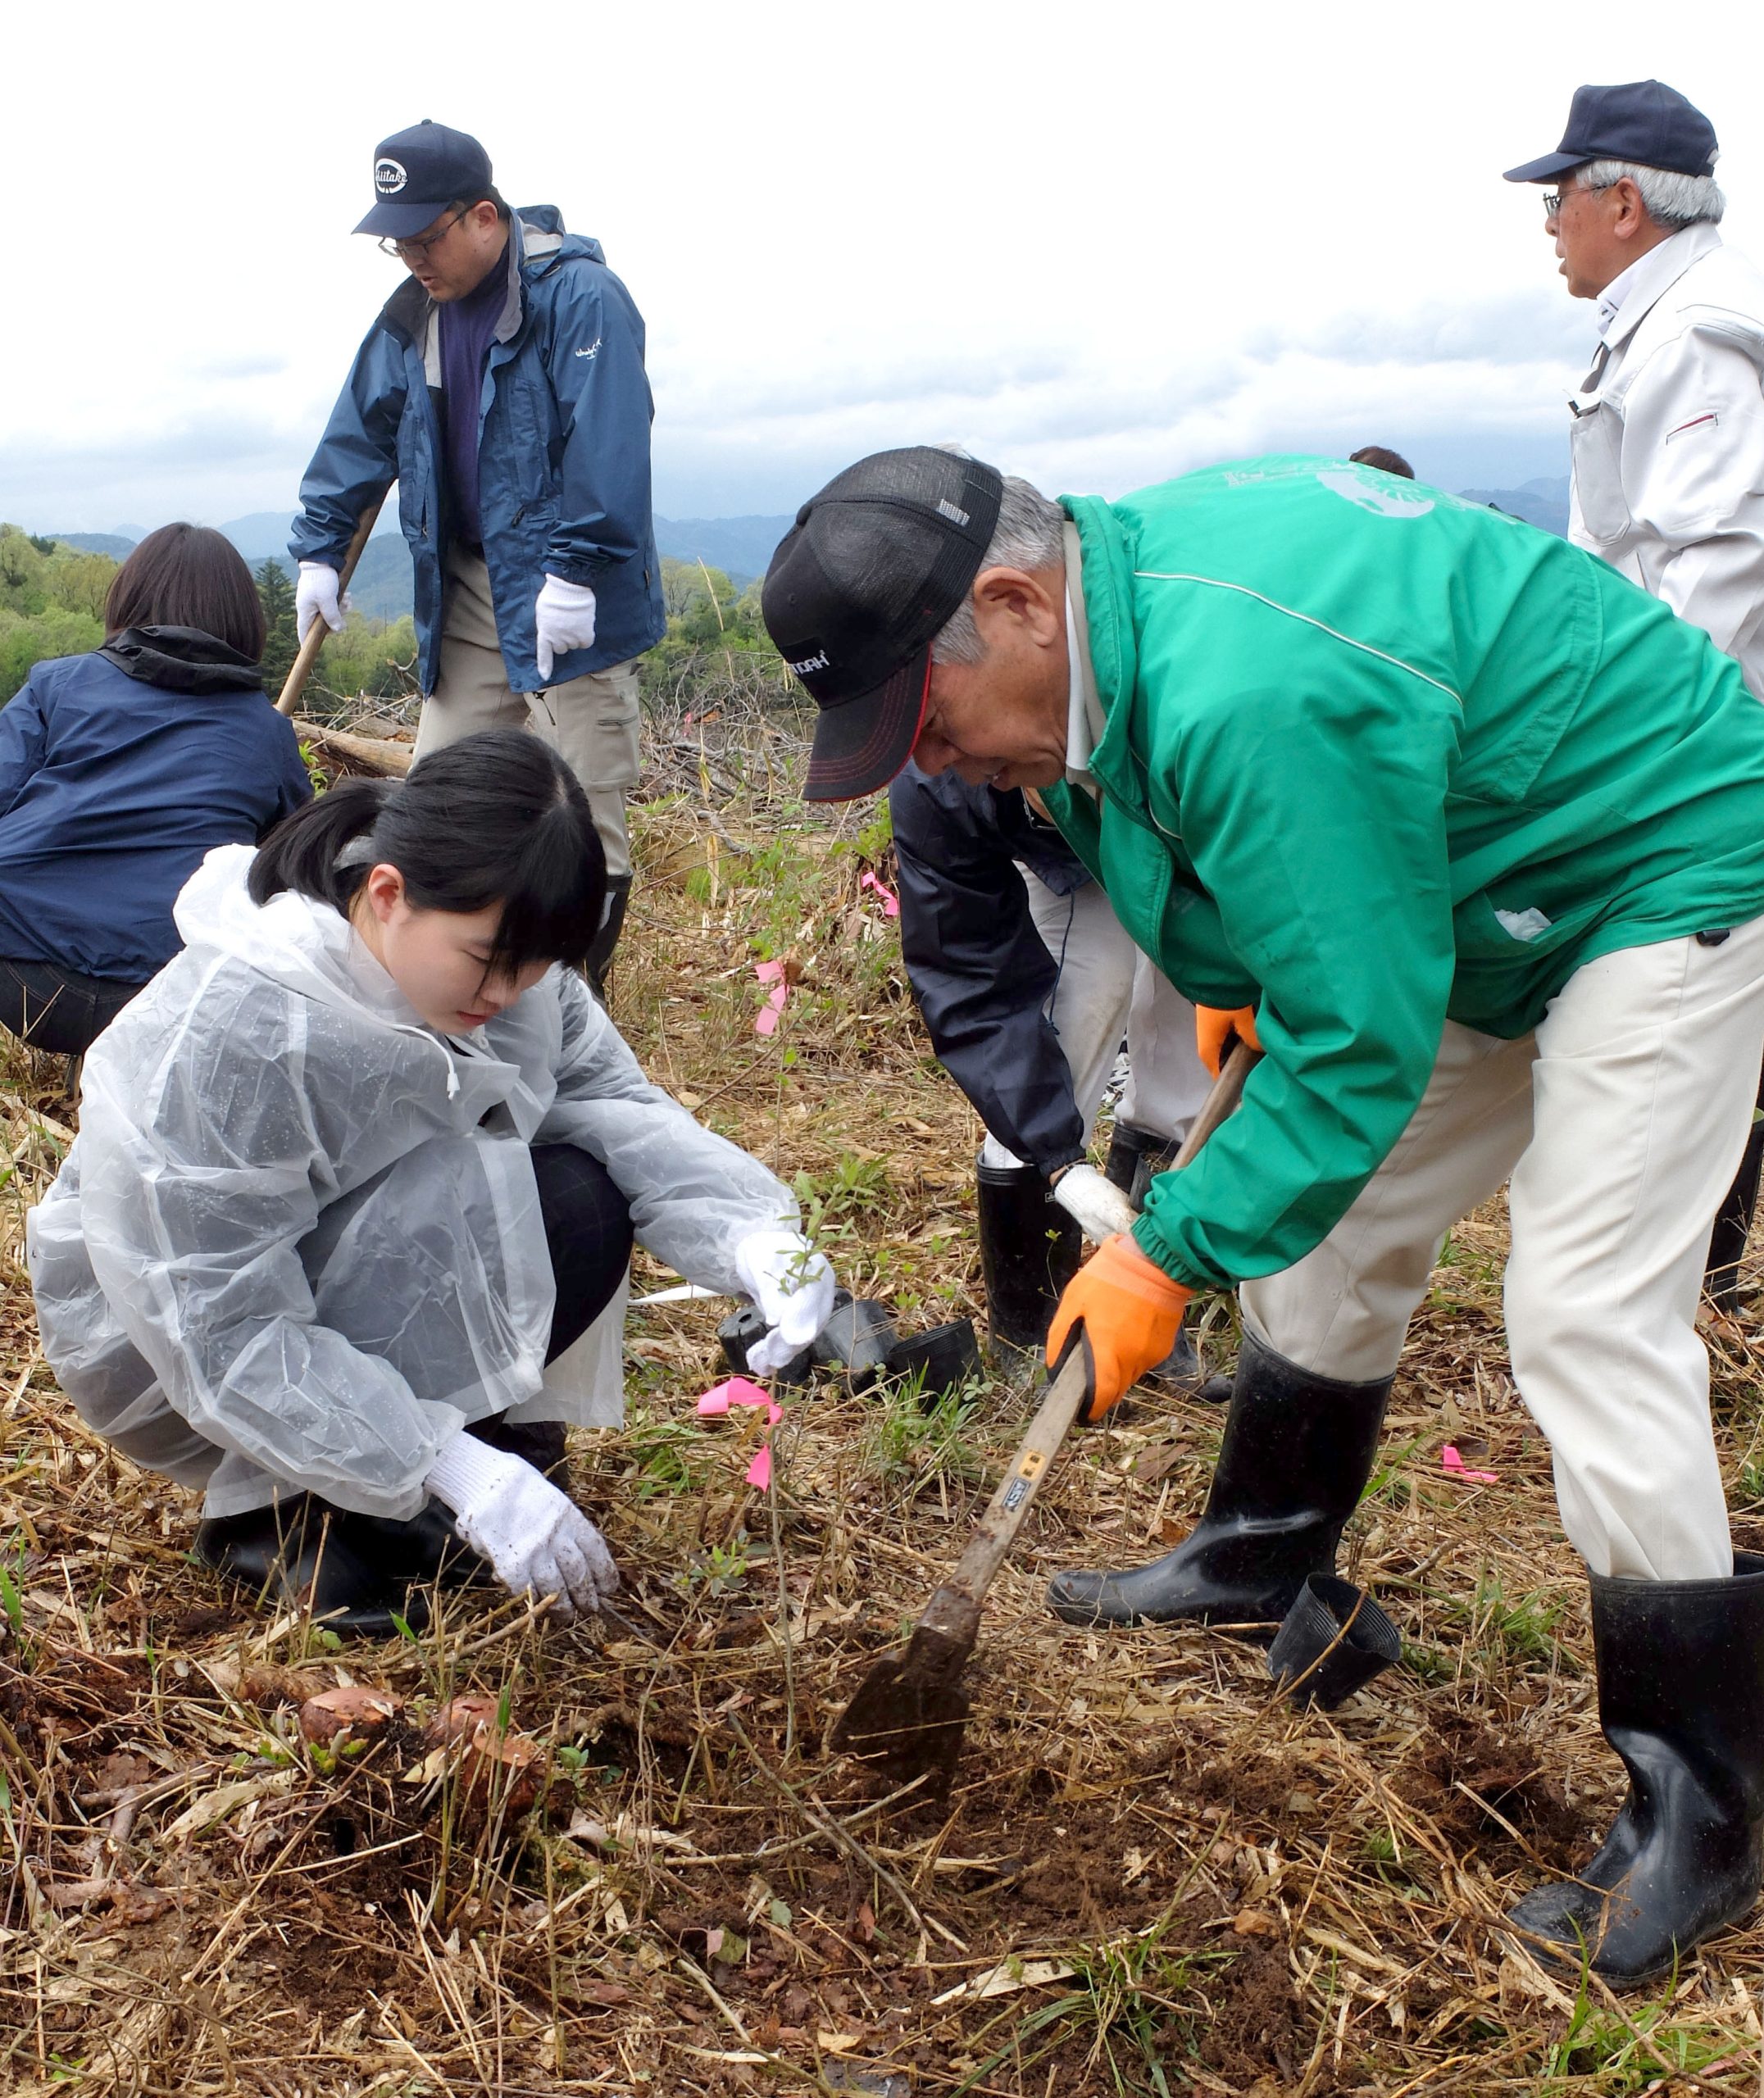
[(101, 1435), (208, 1483), (210, 1515), (281, 1483), (409, 1517), (451, 1435), (539, 1391), (529, 1146), (602, 1160), (638, 1242), (715, 1290), (797, 1204), (644, 1078), (571, 971), (445, 1041), (327, 904), (258, 908), (250, 864), (210, 852), (185, 952), (86, 1057), (80, 1137), (27, 1219), (44, 1355)]

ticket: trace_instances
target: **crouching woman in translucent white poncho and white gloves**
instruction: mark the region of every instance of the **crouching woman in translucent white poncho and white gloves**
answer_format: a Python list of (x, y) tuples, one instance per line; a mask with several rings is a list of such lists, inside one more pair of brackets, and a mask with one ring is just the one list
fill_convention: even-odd
[(206, 1487), (199, 1559), (340, 1632), (489, 1569), (564, 1615), (612, 1592), (547, 1477), (581, 1412), (541, 1383), (623, 1303), (633, 1238), (757, 1299), (761, 1374), (831, 1307), (791, 1192), (575, 973), (604, 896), (581, 787), (520, 730), (210, 852), (27, 1221), (80, 1416)]

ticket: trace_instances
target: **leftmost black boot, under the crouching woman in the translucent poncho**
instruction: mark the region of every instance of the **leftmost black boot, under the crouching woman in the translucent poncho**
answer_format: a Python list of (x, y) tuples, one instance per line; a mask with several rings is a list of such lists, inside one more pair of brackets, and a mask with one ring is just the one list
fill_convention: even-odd
[(413, 1630), (428, 1624), (422, 1594), (388, 1578), (348, 1536), (344, 1511), (310, 1494), (197, 1523), (195, 1555), (273, 1605), (310, 1611), (344, 1639), (396, 1639), (392, 1611)]

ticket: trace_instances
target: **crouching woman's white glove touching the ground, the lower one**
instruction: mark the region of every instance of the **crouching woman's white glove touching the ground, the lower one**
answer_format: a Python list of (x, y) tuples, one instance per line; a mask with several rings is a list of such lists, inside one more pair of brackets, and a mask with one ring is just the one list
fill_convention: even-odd
[(579, 1609), (600, 1609), (617, 1590), (619, 1567), (606, 1540), (524, 1458), (461, 1429), (443, 1443), (424, 1485), (453, 1508), (459, 1536), (516, 1594), (556, 1597), (556, 1618), (568, 1622)]

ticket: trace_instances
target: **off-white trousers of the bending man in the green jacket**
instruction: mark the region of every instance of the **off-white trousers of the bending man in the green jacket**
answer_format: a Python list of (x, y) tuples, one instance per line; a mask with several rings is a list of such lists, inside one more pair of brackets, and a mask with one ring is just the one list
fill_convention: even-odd
[(1506, 1334), (1594, 1574), (1733, 1574), (1697, 1303), (1764, 1047), (1764, 919), (1577, 969), (1535, 1034), (1445, 1024), (1426, 1093), (1359, 1200), (1244, 1322), (1324, 1376), (1397, 1368), (1451, 1225), (1512, 1179)]

